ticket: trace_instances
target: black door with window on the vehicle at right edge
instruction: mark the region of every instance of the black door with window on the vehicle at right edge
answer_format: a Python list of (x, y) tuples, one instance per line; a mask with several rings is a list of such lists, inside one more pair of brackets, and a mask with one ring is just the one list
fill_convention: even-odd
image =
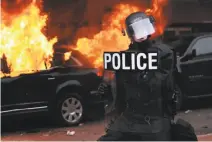
[[(196, 55), (186, 59), (194, 50)], [(180, 68), (188, 97), (212, 95), (212, 35), (194, 39), (181, 58)]]

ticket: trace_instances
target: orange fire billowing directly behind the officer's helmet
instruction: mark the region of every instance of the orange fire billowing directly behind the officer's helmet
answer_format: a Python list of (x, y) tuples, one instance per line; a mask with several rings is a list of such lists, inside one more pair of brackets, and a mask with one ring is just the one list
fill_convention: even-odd
[(130, 40), (127, 36), (123, 36), (121, 32), (125, 18), (133, 12), (145, 11), (156, 19), (157, 32), (154, 36), (161, 35), (166, 25), (162, 14), (163, 7), (166, 4), (167, 0), (153, 0), (152, 9), (140, 8), (130, 4), (117, 5), (109, 19), (104, 20), (106, 22), (103, 23), (103, 30), (94, 35), (93, 39), (78, 39), (76, 50), (88, 56), (96, 68), (102, 68), (104, 51), (117, 52), (128, 49)]

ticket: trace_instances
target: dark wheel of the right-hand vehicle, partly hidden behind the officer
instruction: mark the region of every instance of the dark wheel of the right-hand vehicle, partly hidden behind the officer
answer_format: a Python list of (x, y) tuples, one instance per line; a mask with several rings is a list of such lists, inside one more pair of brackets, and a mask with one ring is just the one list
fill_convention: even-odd
[(175, 85), (174, 93), (176, 95), (177, 110), (180, 110), (183, 106), (184, 98), (183, 98), (183, 93), (178, 85)]

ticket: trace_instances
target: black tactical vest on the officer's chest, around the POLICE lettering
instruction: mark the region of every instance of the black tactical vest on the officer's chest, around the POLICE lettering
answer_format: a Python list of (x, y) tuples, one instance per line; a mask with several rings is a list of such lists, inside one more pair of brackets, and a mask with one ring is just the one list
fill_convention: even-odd
[[(131, 47), (127, 52), (159, 52), (153, 44), (144, 44), (143, 51)], [(139, 45), (137, 45), (139, 46)], [(142, 46), (142, 45), (141, 45)], [(158, 53), (159, 54), (159, 53)], [(160, 70), (122, 72), (127, 110), (135, 114), (163, 116), (162, 83), (166, 77)]]

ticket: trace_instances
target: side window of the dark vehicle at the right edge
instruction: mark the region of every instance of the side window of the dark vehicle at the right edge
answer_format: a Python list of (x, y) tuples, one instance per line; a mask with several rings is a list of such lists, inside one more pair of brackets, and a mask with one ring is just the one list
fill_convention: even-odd
[(212, 37), (204, 37), (199, 39), (193, 45), (192, 49), (196, 49), (197, 56), (212, 53)]

